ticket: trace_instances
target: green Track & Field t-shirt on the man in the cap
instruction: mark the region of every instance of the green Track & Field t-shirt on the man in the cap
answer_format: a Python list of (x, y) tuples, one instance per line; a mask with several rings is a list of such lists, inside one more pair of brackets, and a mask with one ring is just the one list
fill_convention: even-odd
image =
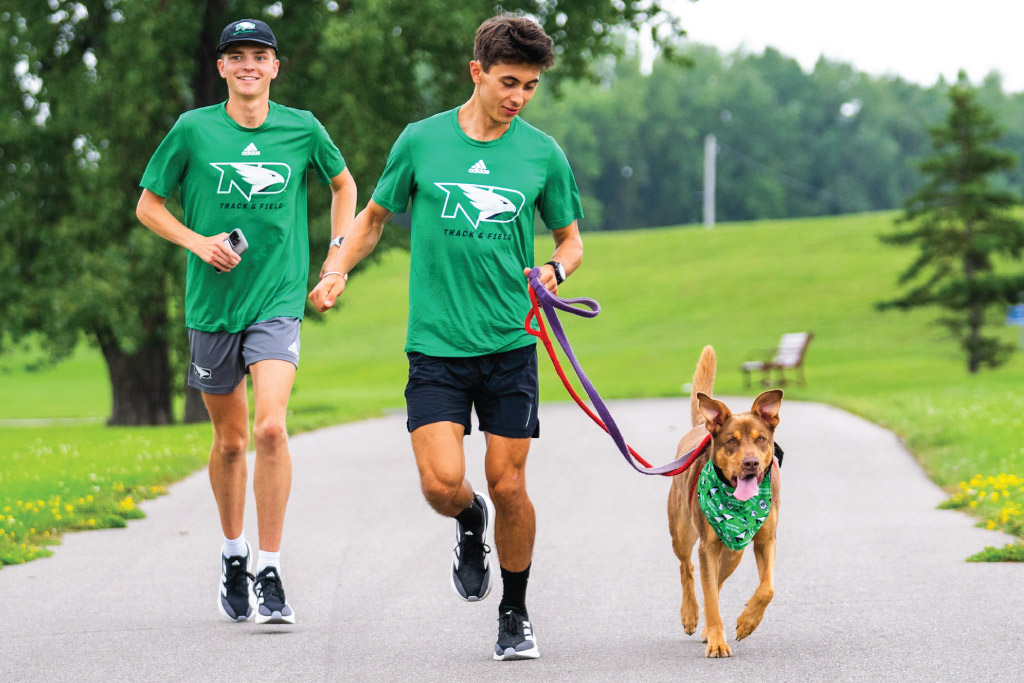
[(139, 183), (170, 197), (184, 223), (204, 236), (241, 228), (242, 262), (217, 272), (193, 253), (185, 274), (185, 325), (239, 332), (279, 315), (302, 317), (309, 274), (306, 170), (325, 184), (345, 169), (338, 147), (309, 112), (270, 102), (258, 128), (227, 116), (224, 103), (182, 114)]

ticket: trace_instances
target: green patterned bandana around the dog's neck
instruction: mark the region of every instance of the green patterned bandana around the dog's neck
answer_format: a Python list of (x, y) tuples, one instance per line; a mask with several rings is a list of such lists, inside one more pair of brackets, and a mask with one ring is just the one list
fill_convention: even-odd
[(736, 489), (722, 483), (715, 465), (708, 459), (697, 479), (697, 501), (711, 527), (730, 550), (742, 550), (758, 532), (771, 511), (771, 472), (749, 501), (737, 501)]

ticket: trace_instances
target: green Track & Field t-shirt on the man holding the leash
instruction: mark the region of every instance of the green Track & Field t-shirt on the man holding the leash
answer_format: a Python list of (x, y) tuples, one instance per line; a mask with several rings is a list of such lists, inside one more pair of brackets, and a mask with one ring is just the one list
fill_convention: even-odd
[(523, 268), (534, 216), (549, 229), (583, 218), (558, 144), (519, 118), (497, 140), (470, 138), (455, 109), (409, 125), (391, 147), (374, 201), (412, 200), (407, 351), (473, 356), (535, 343)]

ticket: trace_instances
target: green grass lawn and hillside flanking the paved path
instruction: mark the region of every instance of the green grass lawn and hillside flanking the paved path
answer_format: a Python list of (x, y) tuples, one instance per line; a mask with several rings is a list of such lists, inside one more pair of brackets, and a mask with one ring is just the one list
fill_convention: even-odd
[[(607, 398), (680, 395), (706, 344), (718, 353), (716, 391), (753, 395), (756, 390), (742, 387), (740, 362), (774, 346), (782, 333), (809, 330), (815, 339), (807, 386), (787, 387), (787, 398), (833, 403), (894, 430), (950, 492), (951, 507), (1022, 536), (1024, 356), (970, 376), (953, 342), (931, 323), (933, 314), (876, 310), (874, 302), (893, 296), (897, 274), (912, 257), (878, 242), (893, 216), (585, 233), (584, 266), (561, 295), (593, 297), (602, 313), (562, 321)], [(550, 258), (552, 245), (547, 236), (538, 240), (538, 262)], [(352, 278), (340, 310), (303, 326), (293, 432), (402, 410), (408, 268), (408, 253), (388, 254)], [(1000, 334), (1017, 341), (1016, 329), (1004, 327)], [(49, 505), (52, 497), (74, 508), (88, 492), (94, 500), (102, 493), (110, 514), (137, 514), (126, 498), (153, 495), (153, 486), (201, 467), (209, 444), (209, 426), (103, 427), (110, 388), (94, 349), (83, 346), (69, 361), (34, 373), (24, 370), (31, 358), (31, 351), (0, 356), (0, 420), (97, 420), (0, 423), (0, 531), (5, 517), (11, 528), (35, 529), (0, 536), (3, 562), (31, 557), (32, 546), (45, 552), (61, 530), (82, 527), (77, 511), (71, 525), (42, 525), (59, 508)], [(541, 367), (542, 399), (567, 400), (550, 364)], [(18, 521), (27, 513), (17, 502), (30, 500), (49, 511), (36, 526)], [(88, 525), (96, 518), (84, 519)]]

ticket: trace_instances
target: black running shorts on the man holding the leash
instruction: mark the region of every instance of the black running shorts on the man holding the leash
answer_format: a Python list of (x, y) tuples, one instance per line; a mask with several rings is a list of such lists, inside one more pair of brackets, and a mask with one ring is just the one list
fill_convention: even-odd
[(481, 431), (508, 438), (537, 438), (537, 345), (469, 357), (409, 354), (407, 426), (455, 422), (469, 434), (476, 409)]

